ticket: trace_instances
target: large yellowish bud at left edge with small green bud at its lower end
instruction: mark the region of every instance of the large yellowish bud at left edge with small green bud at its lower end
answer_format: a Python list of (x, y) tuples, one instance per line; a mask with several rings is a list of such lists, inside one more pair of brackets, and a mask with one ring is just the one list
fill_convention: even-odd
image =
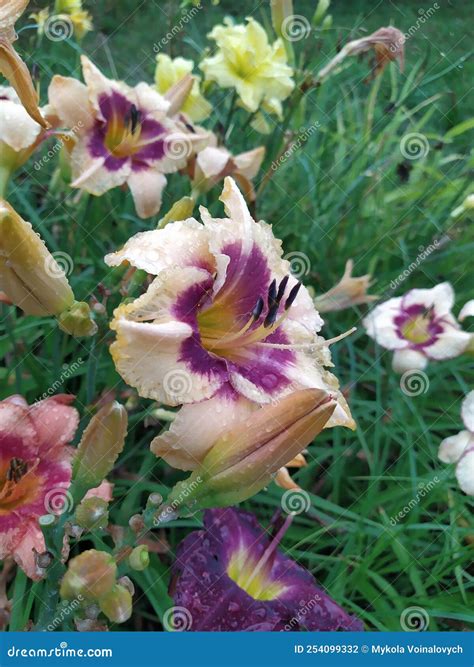
[(27, 315), (55, 315), (66, 333), (90, 336), (97, 331), (89, 306), (74, 300), (63, 269), (39, 235), (2, 199), (0, 288)]

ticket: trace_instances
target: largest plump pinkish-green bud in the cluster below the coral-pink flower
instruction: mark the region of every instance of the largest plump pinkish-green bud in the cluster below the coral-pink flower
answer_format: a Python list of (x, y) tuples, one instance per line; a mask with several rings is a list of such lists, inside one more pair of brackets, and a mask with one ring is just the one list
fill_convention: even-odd
[(98, 600), (115, 585), (117, 565), (105, 551), (89, 549), (69, 561), (66, 574), (61, 582), (60, 594), (63, 600)]

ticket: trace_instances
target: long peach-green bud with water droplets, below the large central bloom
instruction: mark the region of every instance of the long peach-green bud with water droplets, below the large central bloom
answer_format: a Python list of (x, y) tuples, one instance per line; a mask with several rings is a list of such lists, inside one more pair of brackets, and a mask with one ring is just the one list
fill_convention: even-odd
[(335, 408), (322, 389), (261, 408), (216, 441), (199, 468), (172, 489), (167, 509), (226, 507), (250, 498), (318, 435)]

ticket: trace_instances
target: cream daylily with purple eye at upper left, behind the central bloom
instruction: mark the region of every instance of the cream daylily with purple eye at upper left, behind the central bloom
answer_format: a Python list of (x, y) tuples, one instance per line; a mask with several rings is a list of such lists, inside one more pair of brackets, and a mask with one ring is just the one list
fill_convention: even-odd
[(154, 215), (165, 174), (183, 168), (207, 133), (170, 118), (170, 101), (146, 83), (131, 88), (107, 79), (85, 56), (81, 62), (85, 84), (55, 76), (49, 87), (52, 122), (75, 137), (71, 185), (102, 195), (127, 184), (138, 215)]

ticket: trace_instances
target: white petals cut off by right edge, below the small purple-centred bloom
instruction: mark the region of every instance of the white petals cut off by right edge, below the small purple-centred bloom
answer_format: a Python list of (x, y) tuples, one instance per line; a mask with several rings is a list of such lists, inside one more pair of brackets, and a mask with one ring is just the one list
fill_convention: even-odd
[(470, 391), (462, 402), (461, 417), (465, 430), (445, 438), (438, 456), (443, 463), (457, 463), (459, 486), (464, 493), (474, 496), (474, 391)]

